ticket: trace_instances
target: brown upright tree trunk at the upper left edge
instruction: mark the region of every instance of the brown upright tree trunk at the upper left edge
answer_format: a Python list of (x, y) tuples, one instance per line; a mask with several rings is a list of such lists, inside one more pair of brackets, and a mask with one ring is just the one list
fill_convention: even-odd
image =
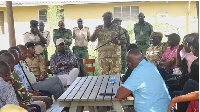
[(12, 1), (6, 1), (6, 12), (8, 22), (9, 44), (10, 47), (12, 47), (16, 46)]

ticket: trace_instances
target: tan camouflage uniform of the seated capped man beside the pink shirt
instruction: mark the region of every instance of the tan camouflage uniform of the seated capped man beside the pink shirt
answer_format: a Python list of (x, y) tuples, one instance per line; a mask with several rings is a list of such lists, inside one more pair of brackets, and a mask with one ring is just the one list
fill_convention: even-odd
[(157, 61), (160, 61), (163, 53), (167, 49), (167, 43), (160, 43), (157, 46), (151, 45), (146, 51), (146, 58), (152, 62), (154, 65), (157, 65)]

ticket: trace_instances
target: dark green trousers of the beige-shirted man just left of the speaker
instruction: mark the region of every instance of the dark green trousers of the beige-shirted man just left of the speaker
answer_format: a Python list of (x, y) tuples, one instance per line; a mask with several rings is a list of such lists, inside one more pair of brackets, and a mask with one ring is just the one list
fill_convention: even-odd
[(78, 58), (87, 59), (89, 58), (88, 54), (88, 47), (79, 47), (79, 46), (73, 46), (73, 53)]

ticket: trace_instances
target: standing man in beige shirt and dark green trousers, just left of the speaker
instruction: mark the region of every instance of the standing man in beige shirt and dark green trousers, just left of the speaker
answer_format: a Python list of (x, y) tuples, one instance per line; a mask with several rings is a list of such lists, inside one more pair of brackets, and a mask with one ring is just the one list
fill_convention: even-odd
[(83, 20), (77, 20), (78, 27), (73, 28), (73, 39), (75, 39), (75, 46), (73, 53), (79, 58), (88, 58), (88, 42), (90, 40), (90, 30), (88, 27), (83, 27)]

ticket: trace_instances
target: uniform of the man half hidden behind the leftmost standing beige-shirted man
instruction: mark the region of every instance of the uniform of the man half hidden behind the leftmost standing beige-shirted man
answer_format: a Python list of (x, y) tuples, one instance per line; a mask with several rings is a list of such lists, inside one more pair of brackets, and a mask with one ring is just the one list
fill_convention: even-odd
[(50, 43), (50, 41), (51, 41), (50, 32), (47, 31), (47, 30), (44, 30), (44, 31), (41, 31), (40, 33), (42, 34), (42, 36), (43, 36), (44, 38), (47, 39), (47, 44), (45, 45), (45, 47), (44, 47), (44, 52), (43, 52), (44, 60), (47, 61), (47, 60), (48, 60), (48, 51), (47, 51), (47, 47), (49, 46), (49, 43)]

